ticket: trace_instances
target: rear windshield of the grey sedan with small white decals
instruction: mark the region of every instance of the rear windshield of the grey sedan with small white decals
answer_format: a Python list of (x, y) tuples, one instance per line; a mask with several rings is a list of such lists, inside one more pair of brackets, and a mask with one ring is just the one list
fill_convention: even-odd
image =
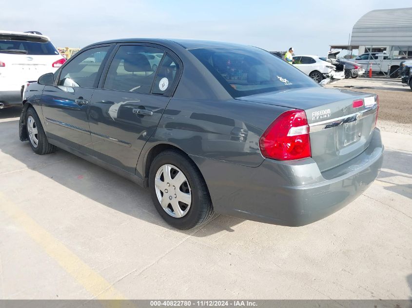
[(233, 97), (319, 86), (285, 60), (258, 48), (200, 48), (190, 52)]

